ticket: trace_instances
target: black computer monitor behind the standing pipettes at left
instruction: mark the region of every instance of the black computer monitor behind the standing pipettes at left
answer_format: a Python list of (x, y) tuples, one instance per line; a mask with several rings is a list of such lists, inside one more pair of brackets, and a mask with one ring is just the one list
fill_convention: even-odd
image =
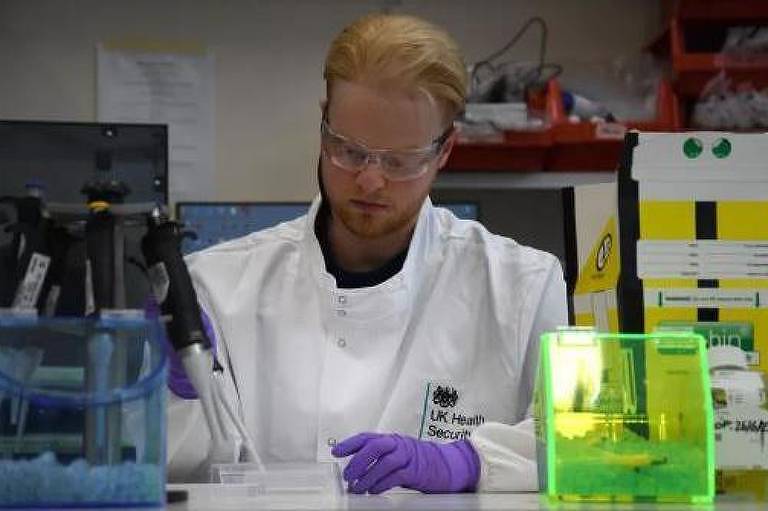
[[(149, 211), (155, 204), (167, 204), (167, 126), (0, 120), (0, 197), (24, 197), (29, 193), (28, 185), (41, 188), (51, 218), (75, 233), (67, 254), (67, 289), (85, 288), (86, 249), (78, 234), (88, 214), (83, 187), (89, 182), (113, 180), (129, 189), (123, 212), (138, 213)], [(14, 224), (17, 216), (12, 204), (0, 203), (0, 258), (13, 248), (6, 227)], [(126, 220), (122, 233), (127, 258), (141, 260), (144, 232), (140, 219)], [(127, 307), (143, 307), (148, 285), (136, 265), (125, 265), (125, 281), (131, 283), (126, 286)], [(78, 296), (70, 299), (67, 290), (62, 291), (57, 313), (82, 313), (83, 293), (78, 291)]]

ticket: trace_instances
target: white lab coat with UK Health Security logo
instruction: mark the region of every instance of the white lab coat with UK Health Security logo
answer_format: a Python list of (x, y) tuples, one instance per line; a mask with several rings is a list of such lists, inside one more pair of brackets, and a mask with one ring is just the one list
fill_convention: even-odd
[[(339, 289), (314, 234), (319, 204), (188, 258), (261, 456), (330, 461), (363, 431), (470, 438), (480, 490), (536, 489), (525, 419), (539, 335), (567, 324), (558, 260), (427, 199), (402, 270)], [(207, 428), (199, 404), (175, 396), (168, 419), (180, 480), (204, 459)]]

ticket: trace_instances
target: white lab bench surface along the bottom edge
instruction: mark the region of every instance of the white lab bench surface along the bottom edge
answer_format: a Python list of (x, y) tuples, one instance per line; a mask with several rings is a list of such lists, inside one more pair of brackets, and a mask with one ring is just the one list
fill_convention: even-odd
[(251, 497), (223, 497), (214, 485), (175, 484), (170, 490), (184, 490), (188, 499), (168, 504), (169, 511), (238, 511), (257, 509), (404, 509), (440, 510), (463, 509), (488, 510), (611, 510), (611, 511), (746, 511), (766, 509), (765, 502), (739, 502), (717, 500), (714, 504), (595, 504), (595, 503), (547, 503), (536, 493), (467, 493), (424, 495), (416, 492), (390, 491), (382, 495), (310, 494), (256, 495)]

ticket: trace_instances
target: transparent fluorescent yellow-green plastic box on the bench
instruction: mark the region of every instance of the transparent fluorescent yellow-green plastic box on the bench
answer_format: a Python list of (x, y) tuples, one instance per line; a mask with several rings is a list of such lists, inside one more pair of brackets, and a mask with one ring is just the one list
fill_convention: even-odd
[(711, 502), (704, 338), (544, 334), (536, 382), (539, 486), (551, 499)]

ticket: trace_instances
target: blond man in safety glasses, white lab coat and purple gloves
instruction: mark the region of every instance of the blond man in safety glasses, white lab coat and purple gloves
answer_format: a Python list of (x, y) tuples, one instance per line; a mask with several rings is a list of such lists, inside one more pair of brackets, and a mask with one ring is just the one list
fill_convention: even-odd
[[(325, 79), (310, 212), (188, 259), (257, 450), (351, 456), (357, 493), (535, 489), (525, 419), (565, 284), (552, 255), (429, 200), (466, 96), (456, 45), (414, 17), (368, 16), (333, 42)], [(183, 476), (204, 461), (205, 424), (179, 398), (169, 421)]]

